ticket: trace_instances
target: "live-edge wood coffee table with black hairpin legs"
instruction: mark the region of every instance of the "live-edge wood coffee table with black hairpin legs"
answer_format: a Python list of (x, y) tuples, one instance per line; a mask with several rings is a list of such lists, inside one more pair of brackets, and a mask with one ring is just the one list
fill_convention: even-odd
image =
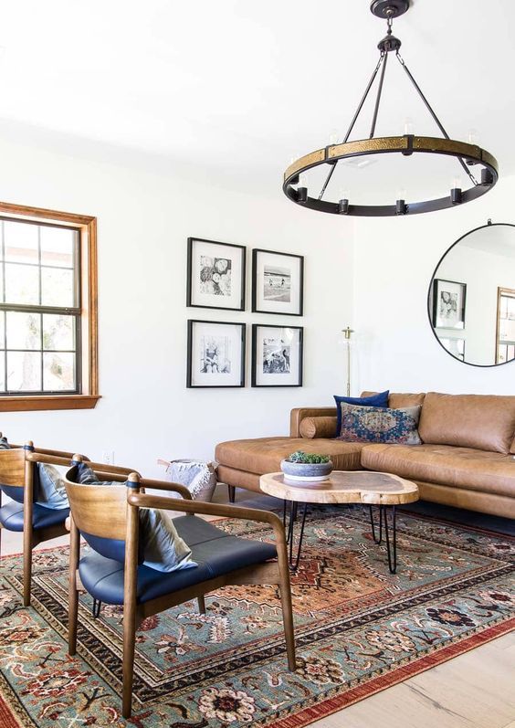
[[(394, 574), (397, 568), (396, 514), (395, 506), (418, 501), (418, 487), (410, 480), (399, 478), (393, 473), (374, 472), (373, 470), (333, 470), (329, 480), (318, 483), (291, 482), (282, 472), (265, 473), (259, 479), (261, 491), (283, 501), (283, 523), (286, 528), (286, 506), (289, 501), (289, 565), (295, 571), (300, 562), (300, 551), (304, 535), (304, 524), (308, 503), (364, 503), (370, 507), (370, 522), (373, 541), (382, 543), (383, 525), (388, 567)], [(297, 556), (293, 558), (293, 527), (297, 518), (298, 505), (303, 504)], [(379, 537), (375, 534), (373, 506), (379, 507)], [(388, 524), (386, 509), (392, 513), (391, 526)], [(392, 529), (392, 544), (390, 543)]]

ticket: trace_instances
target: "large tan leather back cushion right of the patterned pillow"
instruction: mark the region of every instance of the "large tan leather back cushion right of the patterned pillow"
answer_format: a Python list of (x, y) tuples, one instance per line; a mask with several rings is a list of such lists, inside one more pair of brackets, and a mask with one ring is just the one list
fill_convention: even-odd
[(433, 445), (510, 452), (515, 396), (426, 394), (420, 437)]

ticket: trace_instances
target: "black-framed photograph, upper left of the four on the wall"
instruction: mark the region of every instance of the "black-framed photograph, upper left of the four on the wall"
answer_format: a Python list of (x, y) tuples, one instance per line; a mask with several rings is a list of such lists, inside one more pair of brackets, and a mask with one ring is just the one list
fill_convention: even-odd
[(245, 311), (247, 248), (188, 237), (186, 306)]

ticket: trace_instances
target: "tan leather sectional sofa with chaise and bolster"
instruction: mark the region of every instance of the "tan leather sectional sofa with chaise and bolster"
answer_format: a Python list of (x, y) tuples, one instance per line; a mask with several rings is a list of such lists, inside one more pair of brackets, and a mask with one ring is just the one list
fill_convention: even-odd
[[(373, 394), (363, 392), (363, 396)], [(218, 480), (259, 491), (259, 476), (302, 449), (330, 455), (336, 470), (379, 470), (418, 484), (421, 498), (515, 518), (515, 396), (390, 394), (389, 406), (422, 405), (422, 445), (334, 439), (335, 407), (291, 410), (289, 438), (216, 446)]]

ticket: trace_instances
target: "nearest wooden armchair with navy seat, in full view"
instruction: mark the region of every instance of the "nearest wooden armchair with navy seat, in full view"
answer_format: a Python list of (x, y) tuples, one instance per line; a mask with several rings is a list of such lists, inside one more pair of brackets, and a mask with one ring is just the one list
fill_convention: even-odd
[[(79, 583), (93, 598), (123, 605), (124, 718), (131, 717), (135, 632), (142, 620), (195, 597), (200, 610), (205, 611), (205, 594), (221, 586), (279, 584), (288, 665), (289, 670), (295, 670), (287, 547), (282, 522), (275, 513), (192, 501), (184, 486), (142, 480), (136, 473), (125, 485), (107, 488), (78, 485), (69, 480), (70, 473), (66, 480), (71, 509), (68, 652), (74, 655), (77, 649)], [(183, 500), (146, 494), (142, 488), (178, 492)], [(173, 523), (198, 566), (163, 573), (140, 564), (140, 508), (184, 512)], [(267, 522), (275, 534), (275, 543), (232, 536), (195, 513)], [(82, 558), (79, 535), (92, 549)], [(276, 557), (277, 561), (270, 561)]]

